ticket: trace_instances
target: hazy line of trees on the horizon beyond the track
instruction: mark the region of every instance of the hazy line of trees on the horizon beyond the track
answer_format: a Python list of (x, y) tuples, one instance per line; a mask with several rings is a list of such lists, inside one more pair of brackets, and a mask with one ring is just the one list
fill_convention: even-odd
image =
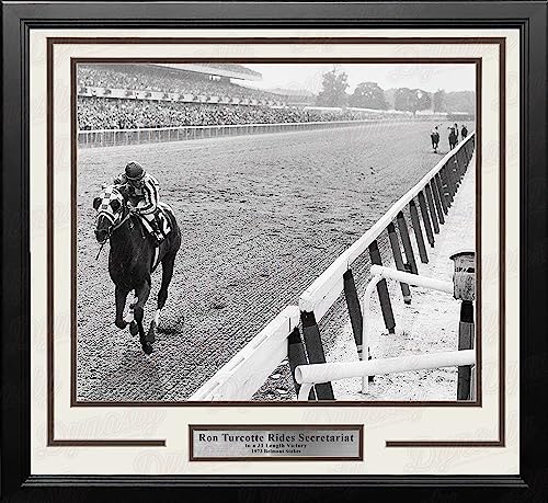
[(352, 94), (347, 93), (349, 76), (333, 69), (323, 73), (322, 89), (316, 98), (318, 106), (352, 106), (356, 108), (399, 110), (416, 113), (475, 112), (475, 93), (471, 91), (429, 92), (422, 89), (381, 89), (376, 82), (361, 82)]

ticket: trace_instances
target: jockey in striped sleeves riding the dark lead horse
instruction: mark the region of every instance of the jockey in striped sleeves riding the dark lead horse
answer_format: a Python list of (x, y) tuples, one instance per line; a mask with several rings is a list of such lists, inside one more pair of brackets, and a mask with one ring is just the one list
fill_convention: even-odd
[(151, 174), (147, 173), (137, 162), (126, 164), (124, 173), (115, 180), (116, 185), (122, 185), (128, 196), (129, 210), (145, 218), (155, 232), (157, 242), (161, 241), (162, 233), (156, 217), (158, 208), (159, 183)]

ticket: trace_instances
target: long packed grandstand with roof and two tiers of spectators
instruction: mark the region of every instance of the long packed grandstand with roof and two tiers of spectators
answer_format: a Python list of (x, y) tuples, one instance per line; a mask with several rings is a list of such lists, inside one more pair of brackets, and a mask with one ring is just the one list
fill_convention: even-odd
[(300, 95), (238, 82), (261, 73), (236, 64), (92, 64), (78, 66), (78, 128), (144, 129), (286, 124), (368, 118), (364, 111), (306, 107)]

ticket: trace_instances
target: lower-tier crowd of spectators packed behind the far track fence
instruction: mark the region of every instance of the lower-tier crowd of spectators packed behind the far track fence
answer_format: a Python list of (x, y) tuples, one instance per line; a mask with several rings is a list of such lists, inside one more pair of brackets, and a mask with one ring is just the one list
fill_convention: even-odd
[(275, 124), (367, 118), (357, 112), (319, 112), (296, 107), (220, 105), (152, 100), (79, 96), (78, 127), (138, 129), (228, 124)]

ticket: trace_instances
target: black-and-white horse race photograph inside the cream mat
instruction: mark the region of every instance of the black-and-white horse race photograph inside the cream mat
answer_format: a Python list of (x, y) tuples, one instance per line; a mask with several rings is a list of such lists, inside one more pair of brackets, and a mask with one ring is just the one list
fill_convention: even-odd
[(73, 78), (76, 404), (476, 399), (475, 64)]

